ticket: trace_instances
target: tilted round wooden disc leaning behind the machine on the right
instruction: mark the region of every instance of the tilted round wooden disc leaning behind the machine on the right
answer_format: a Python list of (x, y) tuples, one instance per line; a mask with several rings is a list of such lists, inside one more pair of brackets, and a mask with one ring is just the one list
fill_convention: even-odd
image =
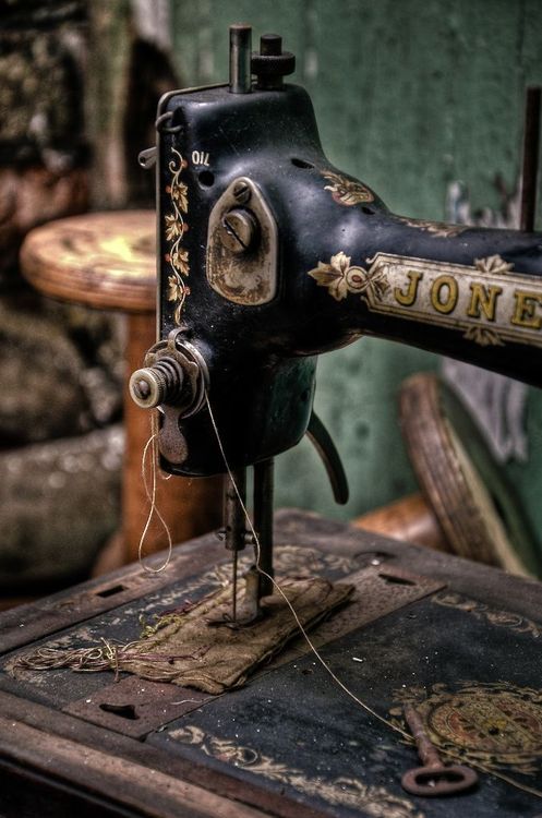
[(413, 468), (453, 553), (537, 576), (522, 509), (458, 401), (435, 375), (402, 384), (401, 426)]

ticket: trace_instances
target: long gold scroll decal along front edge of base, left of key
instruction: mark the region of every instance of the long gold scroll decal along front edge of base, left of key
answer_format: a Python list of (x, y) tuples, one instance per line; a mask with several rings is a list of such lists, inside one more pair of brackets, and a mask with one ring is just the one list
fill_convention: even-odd
[(198, 747), (206, 756), (218, 761), (264, 775), (298, 792), (323, 798), (328, 804), (363, 810), (371, 818), (423, 818), (423, 814), (410, 801), (393, 795), (384, 786), (369, 786), (349, 778), (327, 782), (321, 778), (310, 779), (300, 770), (264, 756), (253, 747), (217, 738), (193, 724), (172, 730), (169, 735), (178, 742)]

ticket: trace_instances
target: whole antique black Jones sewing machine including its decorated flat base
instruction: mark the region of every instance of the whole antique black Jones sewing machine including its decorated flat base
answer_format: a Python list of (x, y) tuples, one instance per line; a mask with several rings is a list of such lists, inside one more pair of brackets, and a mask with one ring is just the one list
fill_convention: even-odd
[[(140, 406), (159, 408), (165, 470), (228, 474), (233, 581), (227, 627), (214, 630), (233, 652), (266, 622), (275, 455), (309, 434), (337, 500), (347, 494), (312, 411), (317, 353), (376, 335), (541, 380), (542, 236), (389, 213), (326, 160), (308, 95), (284, 84), (292, 70), (280, 38), (263, 37), (251, 57), (250, 29), (234, 26), (230, 83), (166, 95), (156, 149), (141, 158), (157, 165), (158, 342), (131, 390)], [(249, 466), (254, 531), (244, 513)], [(225, 695), (123, 673), (142, 617), (171, 623), (224, 591), (214, 534), (174, 549), (164, 572), (133, 564), (7, 612), (2, 814), (542, 811), (542, 586), (299, 512), (276, 521), (280, 578), (309, 573), (356, 587), (313, 636), (334, 679), (301, 639)], [(254, 539), (256, 566), (238, 606), (238, 552)], [(111, 647), (119, 642), (124, 652)], [(147, 648), (146, 661), (166, 669), (186, 659), (156, 651)], [(59, 652), (75, 655), (80, 671), (97, 657), (100, 672), (73, 673)], [(491, 773), (478, 790), (457, 795), (430, 775), (424, 797), (406, 794), (405, 770), (419, 765), (405, 730), (412, 711), (412, 734), (424, 725), (446, 760)], [(437, 794), (448, 797), (425, 797)]]

